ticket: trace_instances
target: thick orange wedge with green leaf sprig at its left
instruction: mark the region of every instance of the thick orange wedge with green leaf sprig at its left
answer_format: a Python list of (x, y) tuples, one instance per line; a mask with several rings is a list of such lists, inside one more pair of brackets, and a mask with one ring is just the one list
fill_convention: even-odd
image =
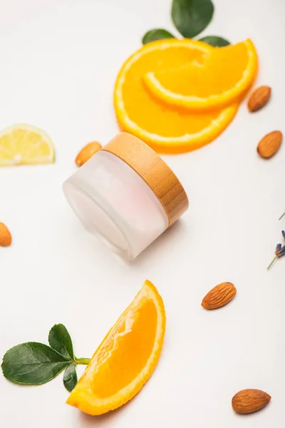
[(162, 298), (145, 281), (96, 350), (67, 403), (95, 415), (128, 402), (155, 370), (164, 335)]

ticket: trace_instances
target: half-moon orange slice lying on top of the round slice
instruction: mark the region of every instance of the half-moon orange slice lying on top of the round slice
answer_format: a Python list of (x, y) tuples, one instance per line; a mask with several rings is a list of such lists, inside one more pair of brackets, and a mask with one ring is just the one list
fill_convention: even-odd
[[(193, 41), (199, 44), (199, 41)], [(204, 61), (149, 71), (144, 79), (149, 91), (173, 106), (194, 110), (229, 106), (252, 86), (257, 74), (257, 52), (247, 39), (233, 46), (214, 48)]]

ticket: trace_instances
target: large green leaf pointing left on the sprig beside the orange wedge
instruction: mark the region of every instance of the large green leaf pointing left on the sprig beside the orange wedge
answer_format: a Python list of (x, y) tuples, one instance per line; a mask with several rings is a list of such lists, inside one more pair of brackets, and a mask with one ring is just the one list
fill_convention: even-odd
[(26, 342), (4, 355), (4, 376), (18, 384), (39, 385), (56, 377), (70, 362), (43, 343)]

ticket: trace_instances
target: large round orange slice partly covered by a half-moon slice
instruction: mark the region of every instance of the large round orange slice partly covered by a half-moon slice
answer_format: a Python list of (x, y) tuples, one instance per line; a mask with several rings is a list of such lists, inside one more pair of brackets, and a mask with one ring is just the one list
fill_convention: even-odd
[(214, 140), (234, 118), (237, 104), (207, 113), (187, 111), (157, 101), (143, 81), (149, 71), (169, 70), (174, 64), (203, 64), (213, 50), (190, 39), (167, 39), (147, 44), (130, 56), (115, 83), (114, 106), (120, 128), (162, 153), (191, 151)]

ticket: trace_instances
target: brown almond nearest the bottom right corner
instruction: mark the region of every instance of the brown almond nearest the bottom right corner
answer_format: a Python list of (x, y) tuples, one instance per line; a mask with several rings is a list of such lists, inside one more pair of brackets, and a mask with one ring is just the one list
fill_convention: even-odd
[(270, 395), (260, 389), (242, 389), (232, 397), (232, 408), (241, 414), (253, 413), (263, 409), (270, 400)]

